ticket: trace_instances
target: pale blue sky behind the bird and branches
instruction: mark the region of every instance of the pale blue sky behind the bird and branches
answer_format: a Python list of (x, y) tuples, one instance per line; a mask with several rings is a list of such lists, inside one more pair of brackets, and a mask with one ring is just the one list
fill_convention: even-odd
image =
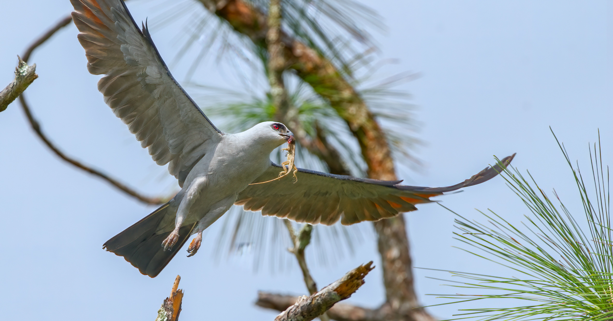
[[(517, 152), (516, 167), (529, 169), (545, 191), (555, 187), (571, 210), (579, 209), (549, 126), (585, 170), (587, 143), (596, 140), (600, 128), (603, 159), (610, 163), (612, 1), (364, 2), (375, 7), (389, 27), (375, 35), (381, 59), (398, 59), (381, 75), (399, 70), (422, 75), (401, 88), (413, 95), (417, 105), (414, 113), (422, 124), (417, 138), (425, 144), (416, 154), (424, 166), (416, 172), (400, 170), (400, 178), (422, 186), (454, 184), (491, 163), (492, 155)], [(150, 3), (128, 3), (135, 20), (148, 16), (151, 25), (152, 18), (159, 18), (159, 8), (151, 9)], [(13, 77), (15, 55), (71, 7), (67, 0), (22, 0), (4, 1), (0, 8), (0, 86), (4, 86)], [(167, 61), (177, 51), (175, 36), (180, 31), (181, 25), (152, 28)], [(151, 195), (172, 191), (166, 168), (151, 161), (102, 102), (97, 77), (86, 70), (76, 34), (70, 25), (31, 58), (40, 78), (26, 93), (43, 129), (70, 155), (140, 191)], [(227, 75), (228, 69), (214, 62), (198, 69), (194, 80), (241, 90), (242, 85)], [(178, 80), (188, 66), (173, 68)], [(196, 89), (187, 90), (199, 96)], [(151, 206), (51, 155), (32, 134), (17, 104), (0, 113), (0, 137), (0, 214), (6, 220), (1, 225), (0, 302), (7, 319), (107, 320), (109, 315), (121, 315), (126, 320), (152, 320), (177, 274), (186, 292), (183, 320), (272, 320), (274, 312), (253, 306), (257, 290), (305, 293), (297, 265), (289, 271), (254, 273), (251, 254), (216, 263), (211, 252), (223, 219), (210, 228), (195, 257), (177, 255), (154, 279), (140, 275), (101, 247), (150, 213)], [(526, 213), (500, 178), (441, 200), (476, 219), (481, 217), (474, 208), (490, 208), (511, 221)], [(406, 218), (416, 266), (508, 275), (452, 248), (459, 245), (452, 240), (454, 217), (440, 206), (422, 205)], [(375, 260), (378, 265), (370, 225), (362, 230), (367, 232), (366, 240), (353, 257), (332, 266), (311, 260), (320, 286), (360, 263)], [(307, 255), (312, 258), (310, 250)], [(458, 292), (426, 278), (441, 275), (416, 271), (417, 290), (425, 304), (441, 302), (428, 293)], [(375, 308), (383, 300), (381, 270), (376, 268), (348, 302)], [(458, 308), (462, 307), (438, 306), (430, 312), (446, 319)]]

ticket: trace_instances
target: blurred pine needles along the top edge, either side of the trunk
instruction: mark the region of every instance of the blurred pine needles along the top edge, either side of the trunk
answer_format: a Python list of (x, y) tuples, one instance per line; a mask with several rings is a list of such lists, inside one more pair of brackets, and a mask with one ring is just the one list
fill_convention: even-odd
[[(264, 14), (268, 10), (267, 0), (246, 1)], [(253, 57), (245, 49), (251, 55), (266, 56), (265, 43), (253, 43), (238, 34), (222, 18), (205, 10), (199, 1), (148, 0), (148, 4), (159, 11), (151, 18), (153, 29), (183, 21), (183, 31), (177, 39), (184, 44), (175, 61), (194, 45), (200, 45), (201, 50), (192, 67), (198, 66), (213, 47), (218, 58), (232, 52), (250, 61)], [(284, 0), (281, 5), (283, 31), (318, 51), (349, 78), (367, 61), (364, 58), (376, 51), (371, 32), (384, 30), (383, 18), (375, 10), (353, 0)]]

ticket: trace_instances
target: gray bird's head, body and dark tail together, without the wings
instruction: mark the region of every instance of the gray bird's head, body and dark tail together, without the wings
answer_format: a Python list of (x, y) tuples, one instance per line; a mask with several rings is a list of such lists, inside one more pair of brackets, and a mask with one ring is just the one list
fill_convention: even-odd
[[(145, 219), (107, 241), (104, 244), (107, 251), (125, 257), (142, 274), (158, 275), (189, 235), (213, 224), (249, 183), (270, 168), (270, 152), (284, 142), (269, 129), (270, 124), (273, 122), (238, 134), (224, 134), (194, 165), (181, 191)], [(160, 244), (182, 216), (177, 244), (165, 251)]]

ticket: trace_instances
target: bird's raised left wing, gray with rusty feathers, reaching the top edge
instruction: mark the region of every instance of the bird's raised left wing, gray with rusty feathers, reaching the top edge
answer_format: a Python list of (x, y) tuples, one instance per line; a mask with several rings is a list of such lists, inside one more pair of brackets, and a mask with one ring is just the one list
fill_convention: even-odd
[(143, 148), (183, 183), (223, 133), (170, 74), (148, 29), (138, 28), (122, 0), (70, 0), (88, 70), (105, 75), (98, 90)]

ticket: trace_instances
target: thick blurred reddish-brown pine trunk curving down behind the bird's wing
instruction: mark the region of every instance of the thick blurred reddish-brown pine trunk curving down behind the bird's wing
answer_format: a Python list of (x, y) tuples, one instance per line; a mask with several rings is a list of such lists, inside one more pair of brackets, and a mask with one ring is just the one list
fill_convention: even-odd
[[(218, 17), (226, 20), (237, 32), (248, 36), (258, 46), (266, 47), (267, 16), (244, 0), (198, 0)], [(289, 69), (330, 104), (345, 119), (359, 142), (362, 156), (368, 165), (368, 176), (376, 179), (395, 180), (395, 168), (389, 144), (375, 116), (368, 110), (364, 99), (357, 93), (343, 74), (313, 48), (292, 39), (280, 31), (278, 39), (283, 43), (284, 60)], [(271, 77), (271, 75), (269, 75)], [(321, 157), (323, 161), (326, 158)], [(346, 174), (346, 168), (329, 164), (330, 172)], [(383, 263), (383, 279), (386, 288), (385, 310), (389, 320), (434, 320), (417, 301), (414, 291), (409, 240), (403, 216), (374, 223), (378, 235), (378, 249)]]

